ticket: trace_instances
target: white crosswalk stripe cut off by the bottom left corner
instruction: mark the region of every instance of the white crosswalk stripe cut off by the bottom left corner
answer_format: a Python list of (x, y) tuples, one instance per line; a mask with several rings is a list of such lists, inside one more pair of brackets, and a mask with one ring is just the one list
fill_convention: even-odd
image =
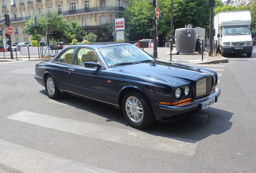
[(116, 173), (0, 139), (0, 163), (25, 173)]

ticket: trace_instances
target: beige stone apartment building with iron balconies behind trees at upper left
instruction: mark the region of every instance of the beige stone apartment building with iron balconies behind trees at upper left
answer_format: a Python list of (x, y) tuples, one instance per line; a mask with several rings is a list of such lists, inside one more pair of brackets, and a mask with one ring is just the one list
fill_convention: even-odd
[[(104, 41), (107, 27), (104, 25), (115, 18), (122, 18), (128, 0), (0, 0), (0, 29), (6, 33), (4, 14), (10, 16), (13, 29), (12, 42), (27, 42), (29, 35), (24, 33), (24, 24), (33, 13), (43, 14), (47, 9), (55, 10), (70, 22), (76, 20), (85, 32), (97, 34), (97, 41)], [(5, 35), (4, 35), (5, 36)]]

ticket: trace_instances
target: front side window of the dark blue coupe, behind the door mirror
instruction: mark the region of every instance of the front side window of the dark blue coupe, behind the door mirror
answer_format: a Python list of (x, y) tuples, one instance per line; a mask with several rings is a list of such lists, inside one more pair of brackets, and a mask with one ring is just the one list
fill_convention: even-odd
[(98, 63), (98, 58), (95, 52), (90, 48), (78, 48), (77, 55), (74, 60), (75, 65), (85, 66), (85, 62), (96, 62)]

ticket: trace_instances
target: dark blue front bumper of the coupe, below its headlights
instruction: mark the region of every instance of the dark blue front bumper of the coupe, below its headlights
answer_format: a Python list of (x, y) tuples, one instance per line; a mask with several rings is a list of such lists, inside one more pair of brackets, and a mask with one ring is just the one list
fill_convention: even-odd
[(197, 111), (202, 110), (202, 103), (206, 101), (210, 101), (215, 98), (215, 103), (218, 101), (218, 97), (221, 95), (221, 90), (215, 88), (215, 91), (211, 93), (208, 97), (204, 97), (202, 99), (193, 100), (191, 103), (182, 106), (169, 106), (169, 105), (158, 105), (161, 119), (157, 119), (157, 121), (165, 121), (172, 122), (180, 120), (184, 117), (191, 115)]

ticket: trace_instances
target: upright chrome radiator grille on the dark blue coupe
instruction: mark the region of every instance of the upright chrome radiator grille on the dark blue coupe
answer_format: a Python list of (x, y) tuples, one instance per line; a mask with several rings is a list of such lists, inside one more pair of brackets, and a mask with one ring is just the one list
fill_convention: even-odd
[(212, 91), (212, 77), (206, 77), (196, 82), (196, 97), (206, 95)]

